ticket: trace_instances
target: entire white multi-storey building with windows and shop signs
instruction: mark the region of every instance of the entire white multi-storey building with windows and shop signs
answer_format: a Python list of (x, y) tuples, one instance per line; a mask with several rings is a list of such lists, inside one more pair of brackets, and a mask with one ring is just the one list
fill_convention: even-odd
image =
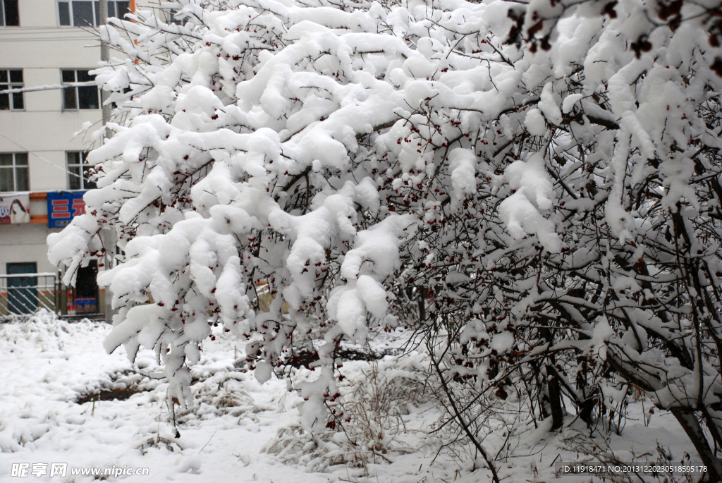
[[(108, 14), (134, 3), (108, 0)], [(76, 287), (61, 287), (45, 242), (84, 212), (82, 194), (93, 187), (83, 174), (90, 139), (77, 133), (102, 118), (100, 92), (88, 85), (99, 20), (97, 0), (0, 0), (0, 316), (50, 305), (103, 310), (97, 262)]]

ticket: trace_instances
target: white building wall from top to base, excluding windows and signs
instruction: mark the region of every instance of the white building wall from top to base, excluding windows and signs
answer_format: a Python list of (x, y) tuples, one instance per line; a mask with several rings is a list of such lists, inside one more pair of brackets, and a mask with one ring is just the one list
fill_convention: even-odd
[[(0, 26), (0, 69), (22, 69), (23, 87), (58, 85), (62, 69), (97, 66), (99, 40), (84, 28), (61, 26), (57, 0), (20, 0), (18, 6), (19, 26)], [(48, 212), (41, 198), (48, 191), (69, 189), (66, 152), (87, 150), (88, 136), (75, 134), (84, 123), (99, 126), (101, 120), (100, 109), (64, 110), (61, 89), (25, 92), (24, 104), (22, 110), (0, 110), (0, 153), (27, 152), (34, 219), (24, 225), (0, 225), (0, 274), (16, 262), (34, 262), (39, 272), (58, 271), (48, 261), (45, 240), (59, 229), (43, 222)]]

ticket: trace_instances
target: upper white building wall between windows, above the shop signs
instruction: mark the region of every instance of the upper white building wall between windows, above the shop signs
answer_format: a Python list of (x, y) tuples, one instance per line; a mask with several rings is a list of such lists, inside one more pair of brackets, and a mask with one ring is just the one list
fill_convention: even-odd
[[(22, 69), (24, 87), (61, 84), (61, 69), (97, 66), (97, 39), (60, 27), (56, 0), (19, 1), (19, 15), (19, 27), (0, 27), (0, 69)], [(87, 148), (87, 139), (73, 135), (100, 121), (100, 110), (64, 111), (60, 89), (24, 96), (25, 110), (0, 110), (0, 152), (28, 153), (30, 191), (67, 189), (65, 152)]]

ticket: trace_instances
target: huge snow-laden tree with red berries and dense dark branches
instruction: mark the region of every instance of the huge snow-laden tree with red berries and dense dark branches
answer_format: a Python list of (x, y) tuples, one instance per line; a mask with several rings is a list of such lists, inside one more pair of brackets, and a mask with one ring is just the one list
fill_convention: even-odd
[(323, 428), (340, 341), (409, 326), (451, 401), (523, 388), (560, 427), (641, 389), (722, 477), (718, 2), (164, 6), (103, 30), (117, 122), (49, 238), (70, 281), (116, 232), (108, 350), (154, 347), (184, 404), (209, 316), (259, 380), (322, 327)]

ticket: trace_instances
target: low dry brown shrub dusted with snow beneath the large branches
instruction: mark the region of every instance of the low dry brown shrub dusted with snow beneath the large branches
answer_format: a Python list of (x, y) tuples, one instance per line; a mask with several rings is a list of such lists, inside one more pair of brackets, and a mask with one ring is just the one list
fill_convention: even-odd
[[(420, 362), (421, 353), (412, 359)], [(419, 441), (433, 427), (409, 427), (411, 412), (432, 412), (438, 400), (428, 388), (425, 370), (400, 363), (396, 357), (372, 362), (346, 362), (353, 375), (339, 383), (339, 398), (329, 404), (331, 419), (325, 432), (314, 436), (303, 427), (286, 427), (264, 448), (281, 461), (303, 464), (308, 471), (344, 464), (365, 477), (371, 466), (393, 461), (399, 454), (419, 451)]]

